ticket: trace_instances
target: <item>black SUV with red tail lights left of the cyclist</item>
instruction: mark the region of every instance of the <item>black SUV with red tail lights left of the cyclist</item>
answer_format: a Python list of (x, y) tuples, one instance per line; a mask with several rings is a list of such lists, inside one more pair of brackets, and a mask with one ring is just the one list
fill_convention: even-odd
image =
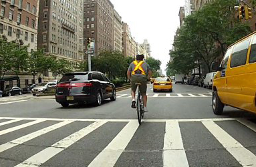
[(102, 104), (102, 100), (116, 100), (116, 87), (100, 72), (66, 73), (57, 83), (55, 100), (61, 106), (69, 104)]

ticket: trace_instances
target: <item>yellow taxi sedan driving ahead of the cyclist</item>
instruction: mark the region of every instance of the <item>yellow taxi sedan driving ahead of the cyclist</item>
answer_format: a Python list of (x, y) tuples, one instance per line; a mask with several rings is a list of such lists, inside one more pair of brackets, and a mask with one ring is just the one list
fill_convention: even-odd
[(156, 77), (153, 83), (153, 91), (169, 90), (172, 92), (172, 81), (168, 77)]

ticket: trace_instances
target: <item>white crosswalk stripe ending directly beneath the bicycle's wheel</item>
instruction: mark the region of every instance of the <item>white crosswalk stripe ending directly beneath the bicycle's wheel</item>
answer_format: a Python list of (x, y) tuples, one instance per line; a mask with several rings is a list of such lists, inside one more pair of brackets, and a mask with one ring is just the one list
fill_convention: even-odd
[(119, 132), (119, 134), (92, 160), (89, 167), (104, 166), (110, 167), (116, 164), (116, 161), (134, 136), (134, 133), (138, 129), (138, 120), (130, 121)]

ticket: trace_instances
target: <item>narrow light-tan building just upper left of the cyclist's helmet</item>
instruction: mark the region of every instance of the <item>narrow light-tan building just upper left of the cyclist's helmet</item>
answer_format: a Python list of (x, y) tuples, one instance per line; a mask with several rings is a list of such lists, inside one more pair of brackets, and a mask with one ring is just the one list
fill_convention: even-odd
[(125, 57), (132, 57), (132, 35), (127, 23), (122, 22), (122, 45), (123, 55)]

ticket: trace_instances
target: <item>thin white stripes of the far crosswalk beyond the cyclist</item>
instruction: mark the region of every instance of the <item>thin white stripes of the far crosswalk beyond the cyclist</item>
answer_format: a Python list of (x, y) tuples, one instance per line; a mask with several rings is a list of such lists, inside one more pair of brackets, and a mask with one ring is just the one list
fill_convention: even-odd
[[(147, 94), (148, 98), (211, 98), (212, 94)], [(131, 98), (128, 94), (118, 94), (116, 98)]]

